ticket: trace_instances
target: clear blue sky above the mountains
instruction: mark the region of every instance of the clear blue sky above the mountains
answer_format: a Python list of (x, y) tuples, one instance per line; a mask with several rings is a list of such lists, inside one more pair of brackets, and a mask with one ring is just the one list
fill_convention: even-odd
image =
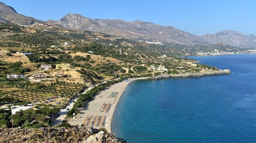
[(60, 20), (68, 13), (92, 19), (146, 21), (202, 36), (230, 29), (256, 36), (256, 0), (0, 0), (19, 14)]

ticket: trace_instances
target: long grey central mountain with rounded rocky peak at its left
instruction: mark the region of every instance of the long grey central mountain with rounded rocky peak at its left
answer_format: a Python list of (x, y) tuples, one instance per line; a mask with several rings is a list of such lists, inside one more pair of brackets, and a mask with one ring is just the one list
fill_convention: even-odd
[(89, 30), (135, 40), (171, 42), (178, 44), (206, 44), (201, 37), (170, 27), (143, 21), (94, 19), (80, 14), (67, 14), (58, 25), (68, 29)]

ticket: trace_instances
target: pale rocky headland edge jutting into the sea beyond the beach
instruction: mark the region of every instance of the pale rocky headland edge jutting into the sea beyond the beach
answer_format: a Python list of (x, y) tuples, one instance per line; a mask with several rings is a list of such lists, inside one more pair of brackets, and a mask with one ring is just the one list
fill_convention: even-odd
[(185, 73), (185, 74), (161, 74), (159, 76), (153, 75), (150, 78), (161, 79), (161, 78), (169, 78), (169, 77), (202, 77), (202, 76), (210, 76), (210, 75), (227, 75), (230, 74), (230, 70), (215, 70), (215, 71), (203, 71), (200, 73)]

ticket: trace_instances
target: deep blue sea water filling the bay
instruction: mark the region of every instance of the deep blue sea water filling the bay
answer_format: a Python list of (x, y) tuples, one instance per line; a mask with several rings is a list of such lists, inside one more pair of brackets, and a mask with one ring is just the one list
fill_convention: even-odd
[(256, 142), (256, 54), (189, 58), (232, 73), (131, 82), (112, 133), (128, 143)]

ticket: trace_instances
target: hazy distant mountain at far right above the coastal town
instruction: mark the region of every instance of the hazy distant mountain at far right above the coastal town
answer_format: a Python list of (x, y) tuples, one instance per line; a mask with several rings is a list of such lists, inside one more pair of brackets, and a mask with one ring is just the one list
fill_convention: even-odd
[(231, 46), (255, 46), (254, 35), (244, 35), (241, 32), (223, 30), (214, 34), (203, 35), (202, 38), (209, 43), (227, 43)]

